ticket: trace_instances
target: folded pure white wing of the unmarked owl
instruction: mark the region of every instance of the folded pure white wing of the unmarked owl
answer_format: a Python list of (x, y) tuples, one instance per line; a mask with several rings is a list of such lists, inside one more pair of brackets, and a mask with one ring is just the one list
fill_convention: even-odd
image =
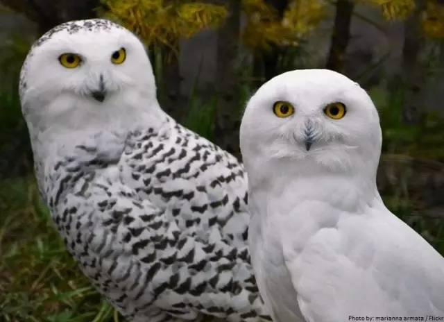
[(443, 257), (385, 207), (344, 216), (300, 253), (284, 243), (284, 258), (307, 321), (444, 314)]

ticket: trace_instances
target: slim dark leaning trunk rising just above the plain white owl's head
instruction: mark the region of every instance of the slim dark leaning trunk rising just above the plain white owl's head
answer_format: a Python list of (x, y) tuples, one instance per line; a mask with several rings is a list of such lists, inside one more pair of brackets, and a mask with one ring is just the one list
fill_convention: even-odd
[(355, 4), (349, 0), (338, 0), (336, 2), (336, 16), (332, 33), (330, 53), (327, 58), (327, 69), (343, 71), (345, 52), (350, 40), (350, 23)]

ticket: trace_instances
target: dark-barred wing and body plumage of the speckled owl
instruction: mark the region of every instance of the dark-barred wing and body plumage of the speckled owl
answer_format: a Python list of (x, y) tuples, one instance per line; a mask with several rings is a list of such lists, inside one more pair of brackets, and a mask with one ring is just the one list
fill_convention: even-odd
[(94, 161), (93, 148), (83, 159), (99, 169), (65, 164), (53, 214), (80, 268), (123, 314), (270, 321), (246, 245), (241, 164), (185, 129), (133, 133), (114, 164)]

